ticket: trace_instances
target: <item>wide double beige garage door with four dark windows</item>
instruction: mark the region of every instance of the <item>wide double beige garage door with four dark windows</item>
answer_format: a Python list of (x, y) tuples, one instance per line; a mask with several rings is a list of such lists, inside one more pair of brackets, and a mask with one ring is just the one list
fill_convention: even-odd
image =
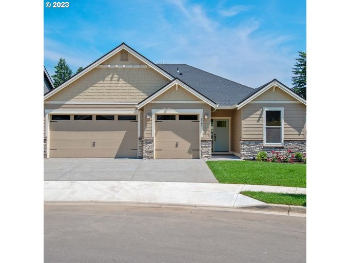
[(52, 115), (50, 157), (137, 157), (137, 130), (135, 115)]

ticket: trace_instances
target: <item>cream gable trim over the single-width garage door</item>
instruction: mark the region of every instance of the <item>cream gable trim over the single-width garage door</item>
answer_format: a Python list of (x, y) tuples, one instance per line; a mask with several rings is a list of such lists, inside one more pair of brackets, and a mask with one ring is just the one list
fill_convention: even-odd
[(155, 91), (153, 94), (151, 94), (150, 96), (148, 96), (146, 99), (144, 99), (143, 101), (138, 103), (138, 109), (142, 108), (143, 106), (145, 106), (147, 103), (149, 103), (150, 101), (154, 100), (155, 98), (157, 98), (158, 96), (160, 96), (161, 94), (163, 94), (165, 91), (167, 91), (169, 88), (171, 88), (174, 84), (179, 84), (181, 87), (183, 87), (184, 89), (186, 89), (188, 92), (192, 93), (193, 95), (195, 95), (197, 98), (199, 98), (200, 100), (204, 101), (205, 103), (209, 104), (211, 107), (216, 108), (218, 105), (216, 104), (216, 102), (212, 101), (211, 99), (207, 98), (206, 96), (204, 96), (202, 93), (200, 93), (199, 91), (197, 91), (196, 89), (190, 87), (189, 85), (187, 85), (186, 83), (184, 83), (183, 81), (181, 81), (178, 78), (175, 78), (174, 80), (170, 81), (168, 84), (166, 84), (165, 86), (163, 86), (162, 88), (160, 88), (159, 90)]

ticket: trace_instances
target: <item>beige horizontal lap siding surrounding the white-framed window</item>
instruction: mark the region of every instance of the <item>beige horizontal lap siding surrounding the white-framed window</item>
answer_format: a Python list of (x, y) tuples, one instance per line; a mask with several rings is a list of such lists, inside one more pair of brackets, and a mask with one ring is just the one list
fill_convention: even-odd
[(297, 104), (247, 104), (242, 110), (242, 139), (263, 140), (263, 107), (284, 107), (284, 139), (302, 140), (306, 106)]

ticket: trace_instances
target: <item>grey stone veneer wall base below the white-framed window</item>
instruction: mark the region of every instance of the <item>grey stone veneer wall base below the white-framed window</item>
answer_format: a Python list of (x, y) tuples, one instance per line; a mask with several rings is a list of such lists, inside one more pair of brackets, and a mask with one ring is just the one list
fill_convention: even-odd
[(271, 156), (271, 151), (285, 152), (290, 149), (293, 153), (306, 154), (306, 141), (285, 140), (284, 146), (264, 146), (263, 141), (241, 141), (241, 159), (252, 160), (261, 151)]

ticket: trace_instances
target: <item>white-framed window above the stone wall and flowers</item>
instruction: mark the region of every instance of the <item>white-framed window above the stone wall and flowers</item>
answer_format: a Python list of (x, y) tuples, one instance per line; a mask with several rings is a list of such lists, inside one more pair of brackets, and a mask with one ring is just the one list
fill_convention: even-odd
[(264, 144), (282, 145), (284, 134), (284, 108), (264, 107)]

